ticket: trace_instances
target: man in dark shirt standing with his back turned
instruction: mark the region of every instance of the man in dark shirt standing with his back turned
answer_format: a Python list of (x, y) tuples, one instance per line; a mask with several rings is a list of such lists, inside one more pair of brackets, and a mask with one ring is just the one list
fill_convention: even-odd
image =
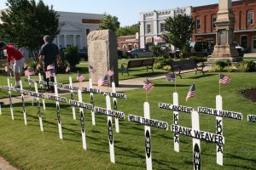
[[(47, 68), (55, 67), (60, 65), (61, 56), (60, 50), (55, 43), (51, 42), (51, 38), (49, 36), (44, 36), (44, 45), (42, 45), (39, 51), (39, 67), (44, 68), (44, 81), (47, 82), (47, 91), (54, 91), (54, 87), (50, 88), (49, 81), (54, 82), (53, 77), (46, 77), (45, 71), (48, 71)], [(44, 65), (43, 65), (44, 63)], [(52, 65), (52, 66), (51, 66)], [(56, 74), (56, 72), (55, 72)]]

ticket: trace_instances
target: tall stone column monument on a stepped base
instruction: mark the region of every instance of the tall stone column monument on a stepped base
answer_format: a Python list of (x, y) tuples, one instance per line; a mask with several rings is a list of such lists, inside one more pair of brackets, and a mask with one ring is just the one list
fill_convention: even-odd
[(238, 56), (234, 42), (235, 15), (232, 13), (231, 0), (218, 0), (218, 13), (216, 20), (216, 44), (209, 62), (231, 62), (242, 60)]

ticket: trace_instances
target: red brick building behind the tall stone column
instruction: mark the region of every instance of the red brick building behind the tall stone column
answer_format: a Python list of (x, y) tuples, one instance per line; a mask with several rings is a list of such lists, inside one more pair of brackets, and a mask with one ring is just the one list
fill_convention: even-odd
[[(239, 42), (247, 52), (256, 52), (256, 0), (232, 2), (235, 14), (234, 41)], [(209, 41), (215, 44), (215, 21), (217, 20), (218, 3), (193, 7), (191, 16), (195, 20), (193, 41)], [(256, 15), (255, 15), (256, 16)]]

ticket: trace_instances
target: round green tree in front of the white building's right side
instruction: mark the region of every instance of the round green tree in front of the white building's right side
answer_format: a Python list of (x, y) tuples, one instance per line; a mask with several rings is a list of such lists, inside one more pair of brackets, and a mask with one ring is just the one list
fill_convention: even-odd
[(190, 16), (178, 14), (166, 19), (165, 29), (166, 33), (161, 37), (183, 52), (186, 42), (192, 37), (194, 22)]

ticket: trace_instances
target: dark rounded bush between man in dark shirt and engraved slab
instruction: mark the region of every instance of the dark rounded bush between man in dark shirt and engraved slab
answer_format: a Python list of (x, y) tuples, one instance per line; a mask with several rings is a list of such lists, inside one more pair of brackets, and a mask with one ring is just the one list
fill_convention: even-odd
[(79, 64), (79, 49), (77, 46), (68, 46), (64, 49), (65, 58), (70, 65), (70, 69), (73, 70), (75, 65)]

